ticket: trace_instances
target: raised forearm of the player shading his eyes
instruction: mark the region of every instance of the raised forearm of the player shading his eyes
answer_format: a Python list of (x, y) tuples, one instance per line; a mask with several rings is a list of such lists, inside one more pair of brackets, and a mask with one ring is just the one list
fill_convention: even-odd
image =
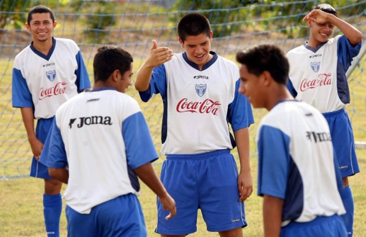
[(362, 33), (351, 24), (345, 22), (342, 19), (337, 18), (335, 15), (328, 14), (328, 20), (333, 25), (337, 26), (340, 31), (347, 37), (351, 45), (356, 45), (362, 40)]

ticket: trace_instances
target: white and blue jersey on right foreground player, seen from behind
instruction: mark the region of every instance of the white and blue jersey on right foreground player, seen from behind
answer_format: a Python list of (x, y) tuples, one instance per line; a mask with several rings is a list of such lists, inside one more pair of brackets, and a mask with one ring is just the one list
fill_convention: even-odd
[(284, 200), (282, 226), (345, 213), (328, 124), (305, 102), (283, 101), (258, 128), (258, 195)]

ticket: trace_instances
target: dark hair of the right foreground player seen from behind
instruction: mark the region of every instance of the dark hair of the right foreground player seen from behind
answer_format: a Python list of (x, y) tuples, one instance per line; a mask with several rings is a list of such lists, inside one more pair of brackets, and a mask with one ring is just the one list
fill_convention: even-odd
[(236, 54), (236, 61), (244, 64), (256, 76), (268, 71), (279, 84), (286, 84), (290, 65), (284, 52), (276, 45), (259, 45)]

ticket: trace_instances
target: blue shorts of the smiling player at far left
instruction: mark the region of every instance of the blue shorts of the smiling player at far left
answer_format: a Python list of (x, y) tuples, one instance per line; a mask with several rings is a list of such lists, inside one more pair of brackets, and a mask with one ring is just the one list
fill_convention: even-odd
[[(51, 119), (38, 119), (36, 126), (36, 137), (43, 144), (45, 144), (49, 130), (51, 129), (53, 118)], [(43, 153), (43, 151), (42, 151)], [(42, 155), (45, 157), (44, 155)], [(41, 162), (38, 162), (36, 158), (33, 157), (32, 164), (30, 166), (30, 176), (36, 178), (53, 179), (48, 175), (48, 168)]]

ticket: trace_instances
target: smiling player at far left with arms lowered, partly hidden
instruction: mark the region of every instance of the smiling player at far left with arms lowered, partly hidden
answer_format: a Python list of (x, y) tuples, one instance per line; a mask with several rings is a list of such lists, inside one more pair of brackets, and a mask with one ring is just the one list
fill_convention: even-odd
[(55, 237), (59, 236), (62, 184), (48, 175), (38, 159), (57, 108), (90, 87), (79, 47), (70, 39), (52, 37), (56, 25), (51, 9), (43, 5), (31, 8), (25, 26), (32, 42), (15, 57), (12, 72), (12, 106), (21, 110), (34, 155), (30, 176), (44, 179), (46, 232)]

